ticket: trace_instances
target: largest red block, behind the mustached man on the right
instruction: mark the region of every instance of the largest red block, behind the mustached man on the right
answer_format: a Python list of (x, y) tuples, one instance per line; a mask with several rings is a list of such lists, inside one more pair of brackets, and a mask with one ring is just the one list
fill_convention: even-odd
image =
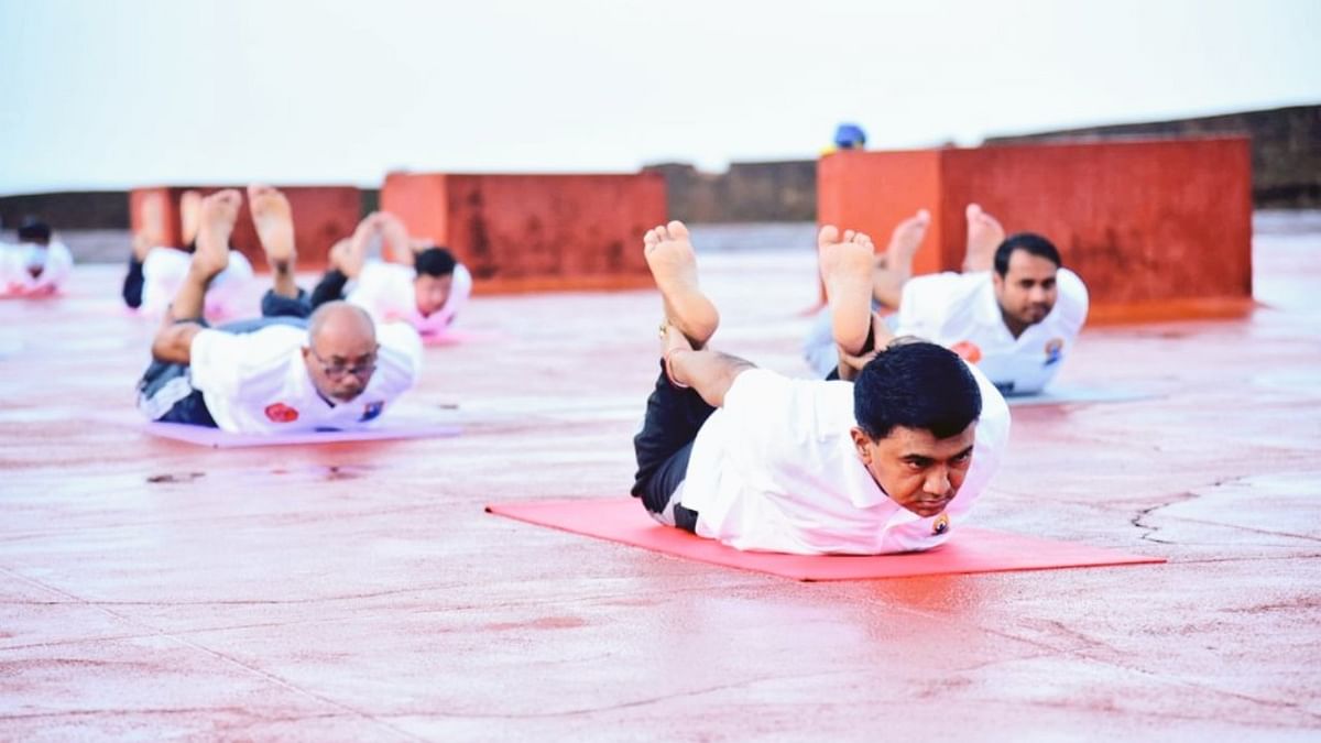
[(841, 152), (819, 168), (822, 222), (884, 245), (917, 206), (934, 226), (915, 270), (958, 270), (963, 210), (1050, 238), (1087, 283), (1096, 320), (1214, 316), (1252, 296), (1248, 140), (1185, 139)]

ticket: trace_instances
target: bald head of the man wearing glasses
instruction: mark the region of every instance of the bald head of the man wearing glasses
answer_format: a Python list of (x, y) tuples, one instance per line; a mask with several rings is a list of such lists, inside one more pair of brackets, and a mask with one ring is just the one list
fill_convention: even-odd
[(376, 327), (361, 307), (328, 301), (308, 320), (303, 358), (328, 398), (347, 402), (362, 394), (376, 368)]

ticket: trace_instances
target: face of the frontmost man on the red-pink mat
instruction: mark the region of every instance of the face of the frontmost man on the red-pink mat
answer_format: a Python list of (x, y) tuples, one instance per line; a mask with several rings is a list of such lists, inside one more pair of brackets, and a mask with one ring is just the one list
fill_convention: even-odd
[(950, 505), (972, 464), (978, 424), (948, 439), (930, 431), (896, 426), (890, 435), (873, 440), (853, 428), (853, 446), (872, 479), (892, 501), (926, 518)]

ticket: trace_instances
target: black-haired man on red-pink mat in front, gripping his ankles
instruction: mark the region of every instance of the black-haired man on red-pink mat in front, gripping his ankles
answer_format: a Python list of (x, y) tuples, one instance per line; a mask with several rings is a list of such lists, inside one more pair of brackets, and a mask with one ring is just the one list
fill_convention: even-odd
[(634, 439), (633, 494), (662, 524), (742, 550), (882, 554), (942, 543), (1000, 464), (1009, 410), (930, 342), (871, 311), (872, 242), (823, 227), (841, 379), (791, 379), (707, 348), (719, 313), (688, 230), (647, 231), (664, 301), (660, 375)]

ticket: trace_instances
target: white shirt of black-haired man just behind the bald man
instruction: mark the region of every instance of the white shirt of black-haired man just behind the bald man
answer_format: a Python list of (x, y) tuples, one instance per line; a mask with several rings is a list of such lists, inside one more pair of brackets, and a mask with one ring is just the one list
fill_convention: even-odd
[(413, 291), (416, 276), (415, 270), (400, 263), (369, 260), (346, 299), (378, 320), (403, 320), (417, 328), (419, 333), (428, 336), (444, 332), (468, 303), (468, 296), (473, 292), (473, 275), (462, 263), (454, 266), (454, 283), (450, 286), (449, 299), (440, 309), (427, 316), (417, 312), (417, 295)]

